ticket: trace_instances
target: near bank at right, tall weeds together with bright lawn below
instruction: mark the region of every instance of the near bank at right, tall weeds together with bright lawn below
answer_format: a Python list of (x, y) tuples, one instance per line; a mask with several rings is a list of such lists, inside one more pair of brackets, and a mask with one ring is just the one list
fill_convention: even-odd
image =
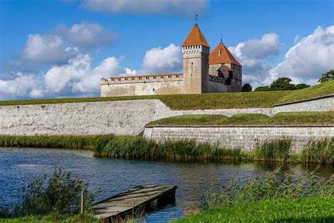
[[(178, 222), (333, 222), (334, 176), (296, 173), (285, 167), (248, 179), (212, 183), (204, 198), (209, 209)], [(261, 213), (261, 215), (259, 215)]]

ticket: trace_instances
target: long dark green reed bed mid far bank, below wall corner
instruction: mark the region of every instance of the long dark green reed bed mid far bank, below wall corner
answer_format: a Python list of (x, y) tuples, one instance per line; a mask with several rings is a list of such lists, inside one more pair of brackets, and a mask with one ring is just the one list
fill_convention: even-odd
[(240, 154), (240, 149), (224, 149), (218, 144), (197, 143), (195, 140), (156, 142), (142, 137), (117, 137), (94, 151), (97, 157), (133, 159), (241, 159)]

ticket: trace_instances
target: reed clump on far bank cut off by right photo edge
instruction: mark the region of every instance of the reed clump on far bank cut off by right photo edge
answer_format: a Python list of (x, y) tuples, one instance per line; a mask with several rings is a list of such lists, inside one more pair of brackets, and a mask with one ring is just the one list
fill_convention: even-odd
[(310, 140), (302, 151), (302, 161), (333, 164), (334, 137), (323, 138), (322, 140)]

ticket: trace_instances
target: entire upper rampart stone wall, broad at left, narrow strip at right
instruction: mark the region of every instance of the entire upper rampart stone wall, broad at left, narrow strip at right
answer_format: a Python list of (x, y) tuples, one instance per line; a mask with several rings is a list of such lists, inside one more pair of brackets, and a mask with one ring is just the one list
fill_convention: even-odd
[(333, 95), (274, 108), (169, 109), (160, 100), (80, 102), (0, 107), (0, 135), (137, 135), (150, 121), (183, 114), (240, 113), (272, 116), (280, 111), (333, 111)]

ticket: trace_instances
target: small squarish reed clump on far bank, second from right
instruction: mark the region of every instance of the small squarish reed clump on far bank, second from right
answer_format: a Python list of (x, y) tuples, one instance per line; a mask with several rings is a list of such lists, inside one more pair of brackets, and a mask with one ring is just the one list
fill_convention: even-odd
[(259, 140), (256, 140), (256, 159), (285, 162), (289, 157), (291, 145), (292, 140), (290, 138), (264, 140), (262, 143), (260, 143)]

